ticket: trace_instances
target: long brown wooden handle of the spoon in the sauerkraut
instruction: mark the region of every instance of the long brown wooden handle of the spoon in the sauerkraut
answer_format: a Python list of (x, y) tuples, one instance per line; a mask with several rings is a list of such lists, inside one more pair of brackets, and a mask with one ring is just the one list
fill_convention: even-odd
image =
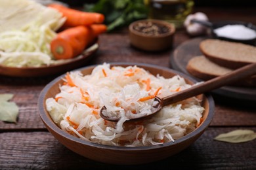
[(249, 65), (245, 65), (239, 69), (236, 69), (226, 75), (217, 76), (211, 80), (207, 80), (206, 82), (202, 82), (200, 84), (196, 84), (191, 88), (186, 90), (182, 90), (181, 92), (174, 93), (173, 95), (169, 95), (167, 97), (163, 97), (162, 105), (170, 105), (171, 103), (176, 103), (178, 101), (182, 101), (184, 99), (188, 99), (190, 97), (209, 92), (211, 90), (215, 90), (220, 88), (221, 86), (228, 85), (236, 80), (241, 78), (246, 78), (247, 76), (251, 76), (256, 74), (256, 63), (251, 63)]

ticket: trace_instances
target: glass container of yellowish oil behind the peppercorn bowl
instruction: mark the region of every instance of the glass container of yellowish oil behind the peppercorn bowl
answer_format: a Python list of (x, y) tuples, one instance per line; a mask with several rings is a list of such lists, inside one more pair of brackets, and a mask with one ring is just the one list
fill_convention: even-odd
[(149, 8), (148, 18), (171, 22), (178, 29), (194, 7), (192, 0), (148, 0), (145, 3)]

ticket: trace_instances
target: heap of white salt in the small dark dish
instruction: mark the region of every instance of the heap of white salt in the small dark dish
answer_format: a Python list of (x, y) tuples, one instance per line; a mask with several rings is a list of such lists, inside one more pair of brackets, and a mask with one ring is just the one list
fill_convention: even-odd
[(244, 25), (225, 25), (214, 30), (219, 37), (226, 37), (229, 39), (255, 39), (256, 31), (245, 27)]

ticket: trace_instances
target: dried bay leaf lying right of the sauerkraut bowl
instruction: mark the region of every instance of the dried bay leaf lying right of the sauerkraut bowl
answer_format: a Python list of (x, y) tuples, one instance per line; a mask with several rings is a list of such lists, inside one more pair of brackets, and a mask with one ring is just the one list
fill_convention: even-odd
[(248, 129), (238, 129), (217, 135), (214, 139), (227, 143), (244, 143), (256, 139), (256, 133)]

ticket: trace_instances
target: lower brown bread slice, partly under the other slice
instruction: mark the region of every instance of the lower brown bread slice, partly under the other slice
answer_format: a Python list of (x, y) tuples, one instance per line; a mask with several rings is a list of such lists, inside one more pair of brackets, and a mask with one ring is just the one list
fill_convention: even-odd
[[(196, 76), (202, 80), (209, 80), (211, 78), (215, 78), (232, 71), (232, 69), (228, 69), (213, 63), (209, 59), (205, 58), (205, 56), (196, 56), (191, 58), (186, 65), (186, 70), (191, 75)], [(245, 78), (244, 80), (240, 80), (238, 82), (234, 82), (234, 84), (230, 85), (256, 87), (256, 75)]]

